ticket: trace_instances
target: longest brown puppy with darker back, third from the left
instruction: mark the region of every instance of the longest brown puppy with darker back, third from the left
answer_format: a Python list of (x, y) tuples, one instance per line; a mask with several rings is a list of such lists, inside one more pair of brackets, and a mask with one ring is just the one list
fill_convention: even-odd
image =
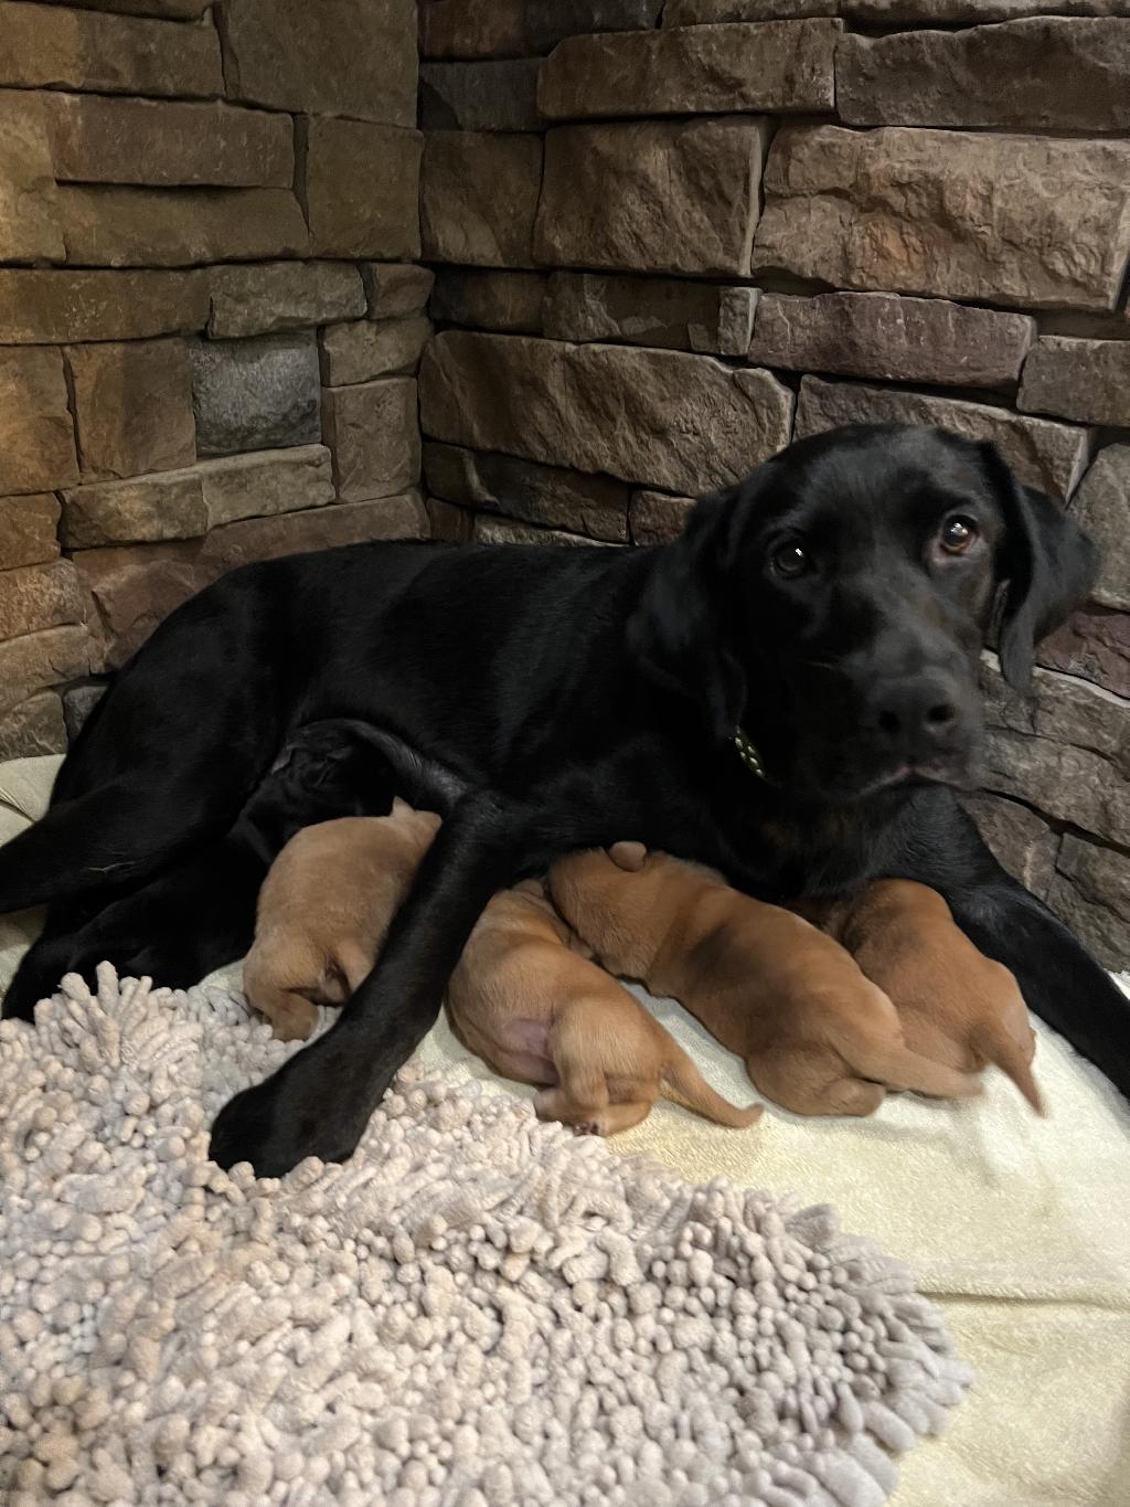
[(887, 996), (808, 921), (639, 842), (574, 853), (550, 894), (613, 974), (678, 999), (802, 1115), (869, 1115), (884, 1087), (942, 1097), (976, 1079), (912, 1052)]

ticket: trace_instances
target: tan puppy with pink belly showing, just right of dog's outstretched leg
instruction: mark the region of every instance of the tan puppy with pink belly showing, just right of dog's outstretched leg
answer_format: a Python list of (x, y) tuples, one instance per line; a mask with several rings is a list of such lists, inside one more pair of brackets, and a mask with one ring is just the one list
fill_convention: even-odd
[(749, 1126), (627, 989), (595, 963), (536, 880), (497, 894), (447, 986), (455, 1034), (503, 1078), (545, 1085), (541, 1120), (616, 1135), (646, 1118), (660, 1094), (723, 1126)]

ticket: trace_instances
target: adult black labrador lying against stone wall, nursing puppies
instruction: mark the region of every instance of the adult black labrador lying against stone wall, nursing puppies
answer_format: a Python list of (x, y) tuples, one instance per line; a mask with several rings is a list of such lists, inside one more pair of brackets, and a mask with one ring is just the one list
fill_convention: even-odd
[[(1125, 1093), (1127, 1002), (954, 794), (985, 637), (1023, 686), (1094, 565), (990, 446), (899, 425), (791, 446), (664, 547), (365, 544), (249, 565), (121, 672), (47, 815), (0, 848), (0, 912), (95, 897), (90, 945), (99, 892), (190, 864), (295, 729), (357, 719), (467, 793), (333, 1028), (220, 1112), (224, 1166), (348, 1157), (490, 895), (621, 838), (765, 900), (933, 885)], [(27, 975), (57, 977), (35, 949)]]

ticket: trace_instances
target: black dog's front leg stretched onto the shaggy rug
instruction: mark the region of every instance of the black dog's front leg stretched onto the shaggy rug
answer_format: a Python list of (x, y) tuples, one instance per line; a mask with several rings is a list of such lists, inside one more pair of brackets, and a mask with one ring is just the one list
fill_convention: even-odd
[(443, 823), (381, 957), (324, 1037), (255, 1088), (212, 1127), (220, 1166), (250, 1162), (279, 1177), (304, 1156), (342, 1162), (396, 1070), (440, 1013), (443, 989), (487, 901), (568, 845), (529, 806), (463, 797)]

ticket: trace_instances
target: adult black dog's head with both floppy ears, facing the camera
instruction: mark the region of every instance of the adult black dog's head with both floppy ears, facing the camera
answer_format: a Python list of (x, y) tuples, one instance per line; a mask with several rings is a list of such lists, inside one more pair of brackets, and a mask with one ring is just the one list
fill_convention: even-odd
[(704, 499), (657, 556), (630, 642), (710, 735), (744, 726), (797, 794), (966, 784), (988, 634), (1026, 686), (1094, 568), (1091, 541), (991, 445), (859, 425)]

